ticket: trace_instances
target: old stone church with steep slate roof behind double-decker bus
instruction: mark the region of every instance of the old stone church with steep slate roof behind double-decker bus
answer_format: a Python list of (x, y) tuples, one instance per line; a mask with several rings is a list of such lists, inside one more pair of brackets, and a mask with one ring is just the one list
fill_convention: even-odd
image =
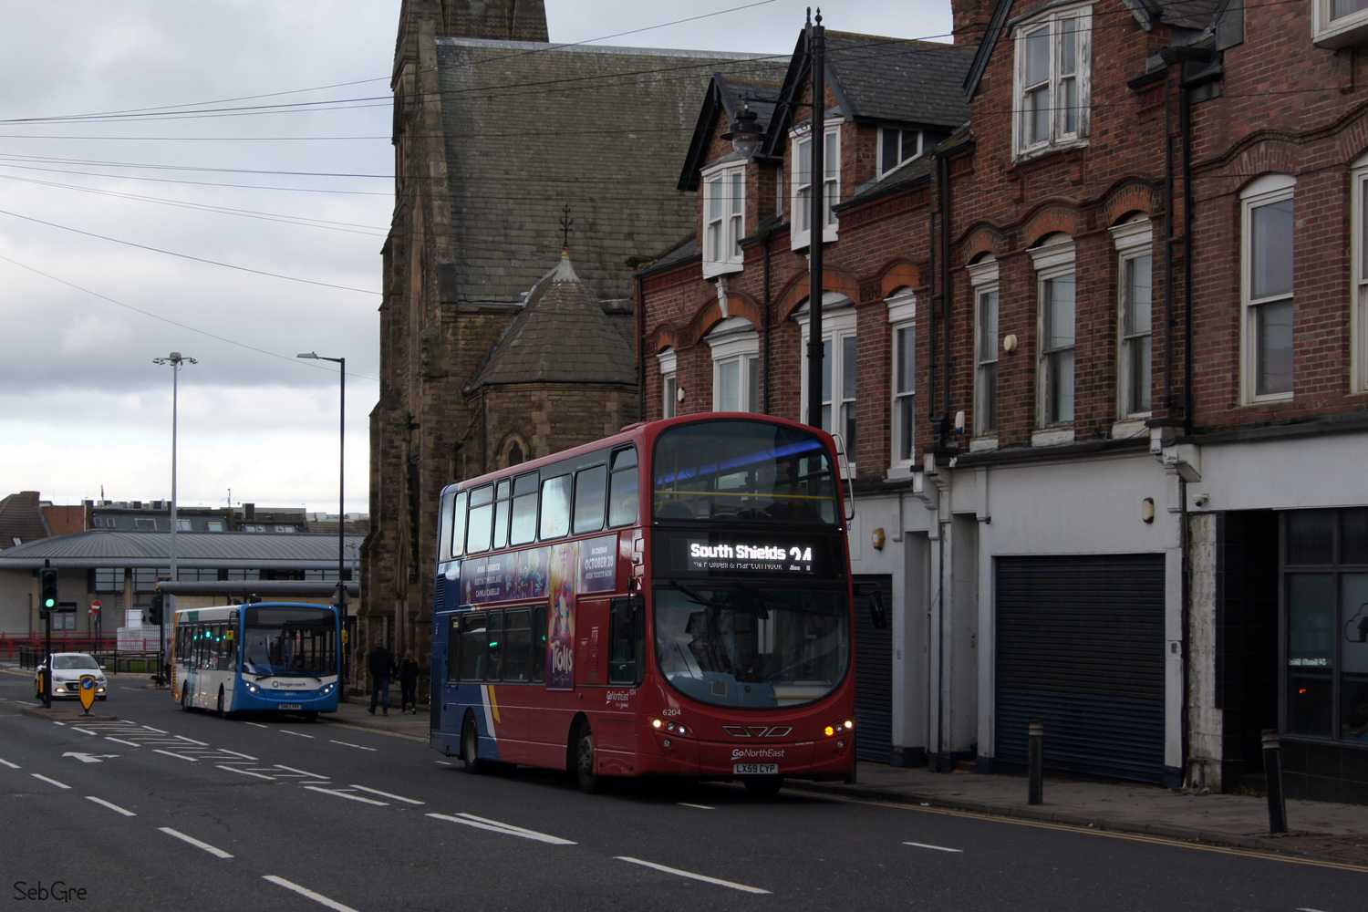
[[(731, 53), (558, 48), (547, 37), (543, 0), (401, 7), (395, 200), (383, 247), (380, 398), (371, 413), (372, 531), (353, 656), (384, 636), (391, 649), (413, 648), (427, 660), (446, 484), (517, 451), (546, 455), (635, 420), (627, 260), (694, 232), (695, 200), (674, 190), (694, 118), (714, 72), (744, 78), (757, 66)], [(543, 280), (561, 253), (564, 205), (575, 217), (575, 269), (562, 264), (577, 272), (572, 283)], [(572, 310), (596, 310), (599, 340), (617, 338), (620, 349), (590, 365), (547, 338), (554, 383), (521, 372), (531, 384), (495, 384), (509, 369), (510, 349), (499, 340), (520, 327), (542, 331), (542, 319), (518, 323), (520, 314), (531, 317), (527, 308), (540, 302), (560, 320), (570, 290)], [(573, 409), (557, 398), (569, 388)]]

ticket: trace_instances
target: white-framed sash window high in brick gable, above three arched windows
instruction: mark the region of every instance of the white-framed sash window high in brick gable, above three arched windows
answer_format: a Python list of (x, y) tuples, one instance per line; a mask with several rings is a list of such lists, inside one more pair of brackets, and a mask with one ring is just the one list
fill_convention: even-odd
[(1016, 29), (1014, 150), (1026, 157), (1088, 142), (1092, 8), (1051, 12)]

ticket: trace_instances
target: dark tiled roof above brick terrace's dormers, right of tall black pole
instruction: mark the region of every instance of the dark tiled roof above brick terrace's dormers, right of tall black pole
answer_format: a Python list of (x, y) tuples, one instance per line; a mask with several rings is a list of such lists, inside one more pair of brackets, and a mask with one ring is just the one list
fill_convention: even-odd
[(951, 44), (826, 33), (828, 70), (856, 119), (958, 127), (969, 120), (963, 82), (973, 59)]

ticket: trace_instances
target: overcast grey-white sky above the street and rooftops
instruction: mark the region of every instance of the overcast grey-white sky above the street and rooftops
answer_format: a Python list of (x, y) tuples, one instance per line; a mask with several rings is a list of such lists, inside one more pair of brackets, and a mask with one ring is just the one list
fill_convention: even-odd
[[(557, 42), (762, 53), (792, 51), (806, 5), (546, 0)], [(0, 0), (0, 496), (170, 498), (152, 360), (181, 351), (179, 502), (335, 513), (337, 365), (294, 357), (317, 351), (347, 360), (346, 509), (368, 509), (398, 10)], [(947, 0), (824, 16), (949, 31)]]

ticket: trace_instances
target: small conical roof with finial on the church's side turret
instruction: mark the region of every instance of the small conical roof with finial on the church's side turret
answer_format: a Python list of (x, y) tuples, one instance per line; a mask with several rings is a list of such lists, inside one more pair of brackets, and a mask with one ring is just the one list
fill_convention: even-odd
[(505, 383), (636, 383), (631, 320), (603, 313), (569, 250), (490, 350), (466, 391)]

